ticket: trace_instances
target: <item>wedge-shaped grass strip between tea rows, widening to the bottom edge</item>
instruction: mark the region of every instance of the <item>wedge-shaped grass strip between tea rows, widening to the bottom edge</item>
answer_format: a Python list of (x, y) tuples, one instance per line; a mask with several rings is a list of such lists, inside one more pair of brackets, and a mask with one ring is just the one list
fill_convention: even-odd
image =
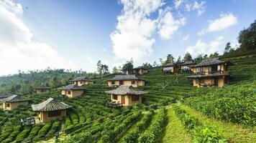
[(191, 142), (191, 137), (186, 133), (178, 117), (172, 107), (167, 110), (168, 124), (165, 127), (165, 136), (163, 137), (163, 143), (181, 143)]

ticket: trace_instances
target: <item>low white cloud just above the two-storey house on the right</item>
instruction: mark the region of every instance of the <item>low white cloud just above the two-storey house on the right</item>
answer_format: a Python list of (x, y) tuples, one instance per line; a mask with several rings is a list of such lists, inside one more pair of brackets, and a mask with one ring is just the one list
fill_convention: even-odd
[(215, 51), (218, 51), (219, 54), (221, 54), (224, 47), (223, 39), (224, 36), (219, 36), (209, 43), (198, 40), (194, 46), (188, 46), (186, 52), (189, 52), (192, 56), (197, 56), (198, 54), (211, 54)]

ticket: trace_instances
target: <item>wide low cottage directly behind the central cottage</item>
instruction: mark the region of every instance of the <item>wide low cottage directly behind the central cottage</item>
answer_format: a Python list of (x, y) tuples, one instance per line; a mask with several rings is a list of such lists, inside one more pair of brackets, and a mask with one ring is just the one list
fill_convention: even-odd
[(145, 86), (145, 80), (137, 78), (134, 74), (131, 75), (116, 75), (108, 80), (109, 87), (126, 85), (132, 87)]

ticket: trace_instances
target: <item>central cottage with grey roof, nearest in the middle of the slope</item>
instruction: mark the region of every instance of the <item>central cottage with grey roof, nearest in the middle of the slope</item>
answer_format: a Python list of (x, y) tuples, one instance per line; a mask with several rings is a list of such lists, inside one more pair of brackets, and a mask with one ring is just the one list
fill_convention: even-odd
[(121, 85), (117, 89), (107, 91), (106, 93), (111, 94), (111, 105), (121, 104), (122, 106), (129, 106), (142, 103), (142, 94), (147, 92), (139, 91), (132, 86)]

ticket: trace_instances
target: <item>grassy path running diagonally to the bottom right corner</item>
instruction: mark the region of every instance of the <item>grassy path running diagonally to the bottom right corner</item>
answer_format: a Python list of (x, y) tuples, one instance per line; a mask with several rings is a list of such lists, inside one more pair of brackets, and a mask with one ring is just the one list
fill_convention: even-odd
[(216, 119), (210, 119), (204, 114), (197, 112), (195, 109), (191, 109), (186, 105), (180, 106), (182, 109), (185, 109), (188, 114), (193, 115), (198, 118), (199, 122), (215, 126), (219, 131), (221, 131), (227, 139), (231, 142), (255, 142), (256, 134), (253, 132), (253, 127), (244, 127), (239, 124), (234, 124), (230, 122), (224, 122)]

